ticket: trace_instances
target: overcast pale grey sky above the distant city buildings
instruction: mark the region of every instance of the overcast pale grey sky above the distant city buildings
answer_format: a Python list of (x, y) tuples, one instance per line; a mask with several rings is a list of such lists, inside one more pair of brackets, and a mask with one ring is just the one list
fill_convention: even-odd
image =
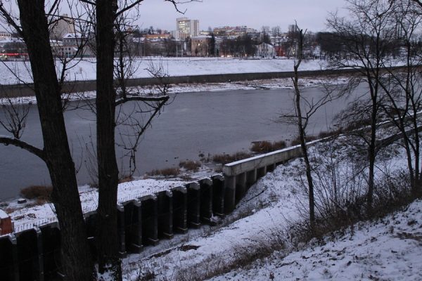
[(145, 0), (140, 8), (141, 28), (160, 27), (175, 30), (176, 18), (199, 20), (200, 30), (224, 25), (248, 25), (260, 29), (263, 25), (279, 25), (286, 31), (294, 20), (303, 29), (319, 31), (325, 29), (328, 11), (345, 6), (344, 0), (203, 0), (180, 5), (185, 15), (174, 10), (164, 0)]

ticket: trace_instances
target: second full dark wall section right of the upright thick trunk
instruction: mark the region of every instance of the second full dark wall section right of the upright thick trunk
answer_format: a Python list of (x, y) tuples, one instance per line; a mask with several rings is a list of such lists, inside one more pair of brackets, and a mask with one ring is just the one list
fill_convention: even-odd
[(142, 207), (142, 244), (158, 245), (157, 197), (147, 195), (139, 198)]

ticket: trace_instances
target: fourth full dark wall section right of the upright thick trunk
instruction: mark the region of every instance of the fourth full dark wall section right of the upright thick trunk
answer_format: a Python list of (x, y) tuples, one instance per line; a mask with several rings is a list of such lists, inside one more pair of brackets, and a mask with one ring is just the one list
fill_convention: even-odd
[(172, 189), (173, 195), (173, 230), (178, 233), (188, 232), (188, 191), (184, 186)]

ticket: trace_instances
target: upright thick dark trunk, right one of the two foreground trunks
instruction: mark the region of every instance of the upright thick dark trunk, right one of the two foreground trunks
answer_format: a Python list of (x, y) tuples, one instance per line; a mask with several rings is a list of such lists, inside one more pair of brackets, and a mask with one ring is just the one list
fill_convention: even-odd
[(97, 56), (97, 157), (98, 157), (98, 270), (122, 279), (117, 236), (117, 184), (119, 171), (115, 154), (115, 89), (113, 32), (117, 1), (96, 1)]

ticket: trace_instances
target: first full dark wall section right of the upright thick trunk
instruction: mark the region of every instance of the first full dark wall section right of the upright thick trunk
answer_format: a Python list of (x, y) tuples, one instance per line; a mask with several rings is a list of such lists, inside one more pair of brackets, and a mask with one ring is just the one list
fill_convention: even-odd
[(142, 249), (142, 209), (139, 200), (123, 203), (124, 207), (124, 239), (126, 250), (139, 254)]

